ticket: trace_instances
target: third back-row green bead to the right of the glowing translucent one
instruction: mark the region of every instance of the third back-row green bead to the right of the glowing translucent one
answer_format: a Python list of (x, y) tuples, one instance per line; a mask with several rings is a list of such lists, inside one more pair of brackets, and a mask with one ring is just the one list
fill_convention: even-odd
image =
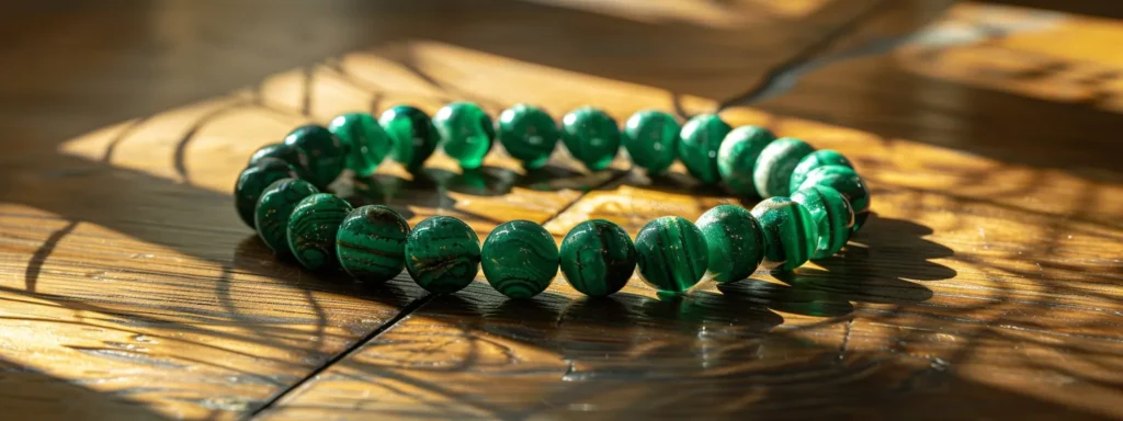
[(661, 174), (675, 162), (678, 121), (661, 111), (640, 111), (628, 118), (620, 140), (632, 163), (648, 174)]

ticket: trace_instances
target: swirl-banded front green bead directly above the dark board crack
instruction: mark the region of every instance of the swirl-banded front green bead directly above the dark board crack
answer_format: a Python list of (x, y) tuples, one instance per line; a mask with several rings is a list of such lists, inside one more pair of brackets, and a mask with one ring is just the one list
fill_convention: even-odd
[(460, 291), (480, 272), (480, 237), (459, 219), (426, 218), (405, 240), (405, 269), (431, 293)]

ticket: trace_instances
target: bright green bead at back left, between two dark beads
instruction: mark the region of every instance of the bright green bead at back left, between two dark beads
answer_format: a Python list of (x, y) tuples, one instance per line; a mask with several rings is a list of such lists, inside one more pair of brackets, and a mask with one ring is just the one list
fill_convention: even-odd
[(390, 153), (390, 135), (366, 112), (336, 117), (328, 125), (328, 131), (347, 147), (347, 168), (357, 176), (374, 174), (374, 170)]

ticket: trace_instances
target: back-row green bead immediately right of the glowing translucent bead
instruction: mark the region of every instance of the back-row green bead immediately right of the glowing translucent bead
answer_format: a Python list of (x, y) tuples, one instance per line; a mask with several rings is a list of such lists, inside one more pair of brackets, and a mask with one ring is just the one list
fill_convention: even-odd
[(495, 130), (508, 155), (522, 162), (522, 166), (541, 168), (550, 161), (562, 134), (554, 118), (541, 109), (517, 104), (499, 115)]

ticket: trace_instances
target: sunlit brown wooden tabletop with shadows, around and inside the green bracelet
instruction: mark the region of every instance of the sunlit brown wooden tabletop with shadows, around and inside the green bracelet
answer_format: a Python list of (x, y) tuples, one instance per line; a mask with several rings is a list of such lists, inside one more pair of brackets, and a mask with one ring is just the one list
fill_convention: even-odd
[[(1040, 9), (1052, 7), (1053, 10)], [(0, 17), (3, 419), (1123, 419), (1115, 2), (24, 2)], [(272, 258), (237, 173), (304, 122), (471, 100), (720, 111), (850, 156), (837, 257), (509, 301)], [(677, 165), (677, 164), (676, 164)], [(562, 148), (344, 183), (481, 238), (738, 200)], [(743, 203), (751, 207), (752, 203)]]

